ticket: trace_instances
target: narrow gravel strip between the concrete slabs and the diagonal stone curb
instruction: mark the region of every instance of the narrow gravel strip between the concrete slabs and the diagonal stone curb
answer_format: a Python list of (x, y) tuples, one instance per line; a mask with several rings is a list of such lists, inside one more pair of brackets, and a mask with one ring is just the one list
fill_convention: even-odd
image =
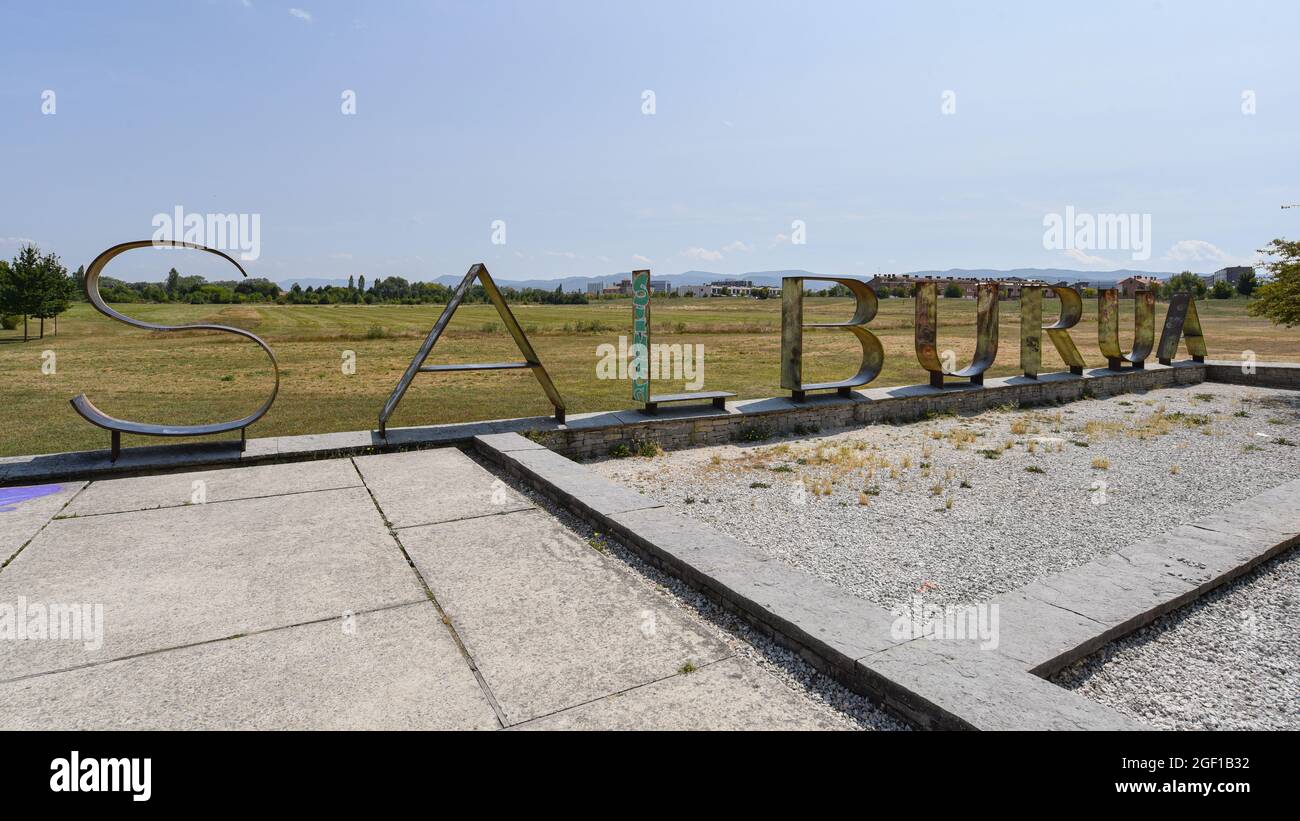
[(563, 526), (632, 570), (633, 575), (654, 590), (667, 607), (693, 614), (705, 629), (725, 643), (737, 656), (754, 663), (805, 699), (814, 709), (846, 730), (907, 730), (907, 724), (894, 718), (870, 699), (848, 690), (832, 678), (818, 673), (797, 655), (754, 631), (734, 613), (723, 609), (705, 595), (642, 560), (632, 548), (607, 534), (599, 534), (584, 520), (515, 477), (503, 474), (494, 464), (469, 452), (469, 457), (499, 477), (506, 485), (554, 516)]

